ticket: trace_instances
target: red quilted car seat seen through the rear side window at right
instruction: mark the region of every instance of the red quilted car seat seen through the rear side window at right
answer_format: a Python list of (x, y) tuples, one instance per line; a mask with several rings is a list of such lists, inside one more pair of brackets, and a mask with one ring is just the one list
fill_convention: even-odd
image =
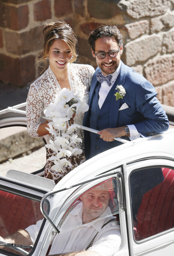
[(162, 170), (164, 181), (143, 195), (137, 214), (136, 240), (174, 227), (174, 170)]

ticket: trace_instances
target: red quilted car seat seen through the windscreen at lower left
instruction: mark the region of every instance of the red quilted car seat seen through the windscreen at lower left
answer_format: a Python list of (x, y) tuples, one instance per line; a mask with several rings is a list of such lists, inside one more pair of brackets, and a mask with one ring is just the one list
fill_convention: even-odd
[(0, 191), (0, 234), (2, 237), (36, 224), (43, 218), (39, 202)]

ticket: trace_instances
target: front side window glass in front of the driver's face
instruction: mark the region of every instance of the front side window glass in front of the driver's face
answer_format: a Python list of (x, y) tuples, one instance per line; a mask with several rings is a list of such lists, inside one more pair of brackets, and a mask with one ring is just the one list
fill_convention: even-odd
[[(119, 213), (118, 186), (115, 178), (89, 188), (67, 209), (58, 224), (60, 233)], [(74, 221), (74, 215), (77, 215)]]

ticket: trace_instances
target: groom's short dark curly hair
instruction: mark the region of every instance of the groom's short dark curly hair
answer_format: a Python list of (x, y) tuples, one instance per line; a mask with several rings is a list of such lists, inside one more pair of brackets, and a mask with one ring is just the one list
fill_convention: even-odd
[(91, 46), (92, 50), (95, 50), (95, 41), (98, 38), (103, 38), (103, 37), (112, 37), (112, 38), (114, 37), (119, 46), (123, 45), (123, 39), (122, 39), (123, 36), (120, 33), (117, 26), (101, 25), (101, 26), (95, 28), (89, 34), (88, 44)]

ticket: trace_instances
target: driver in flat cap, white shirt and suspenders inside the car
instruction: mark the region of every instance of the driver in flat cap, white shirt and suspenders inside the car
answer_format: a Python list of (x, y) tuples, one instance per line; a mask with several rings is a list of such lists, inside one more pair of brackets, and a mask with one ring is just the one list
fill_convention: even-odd
[[(119, 222), (113, 216), (99, 218), (101, 215), (111, 215), (108, 204), (110, 192), (114, 190), (114, 187), (110, 179), (88, 190), (80, 197), (81, 201), (69, 212), (61, 229), (74, 224), (80, 227), (56, 234), (48, 255), (112, 256), (118, 251), (121, 245)], [(8, 243), (28, 246), (34, 244), (41, 224), (42, 220), (25, 230), (18, 230), (4, 240)], [(82, 224), (85, 225), (81, 226)]]

